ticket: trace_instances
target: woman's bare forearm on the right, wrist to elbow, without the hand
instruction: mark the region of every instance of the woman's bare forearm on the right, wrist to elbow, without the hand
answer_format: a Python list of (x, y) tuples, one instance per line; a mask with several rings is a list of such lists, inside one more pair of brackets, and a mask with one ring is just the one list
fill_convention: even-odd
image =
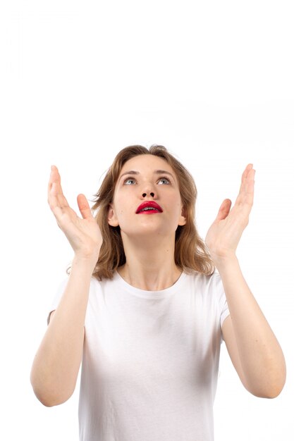
[(247, 387), (266, 396), (268, 390), (280, 390), (286, 379), (286, 364), (280, 344), (243, 277), (236, 257), (217, 262), (240, 364)]

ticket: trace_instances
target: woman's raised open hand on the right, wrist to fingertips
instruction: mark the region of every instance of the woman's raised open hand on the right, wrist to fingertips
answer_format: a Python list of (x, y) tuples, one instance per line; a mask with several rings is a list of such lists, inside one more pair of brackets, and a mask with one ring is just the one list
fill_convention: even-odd
[(205, 242), (215, 264), (218, 260), (235, 256), (242, 233), (248, 225), (255, 185), (255, 170), (252, 167), (252, 164), (248, 164), (243, 172), (240, 192), (233, 209), (232, 201), (225, 199), (207, 232)]

